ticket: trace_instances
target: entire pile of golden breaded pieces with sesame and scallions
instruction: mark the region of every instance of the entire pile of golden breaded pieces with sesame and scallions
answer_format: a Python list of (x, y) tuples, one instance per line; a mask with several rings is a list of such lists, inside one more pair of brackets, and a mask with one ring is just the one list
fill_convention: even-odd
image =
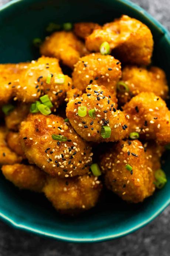
[[(103, 186), (130, 203), (162, 188), (170, 111), (166, 75), (150, 66), (152, 52), (150, 29), (123, 15), (103, 26), (65, 23), (41, 43), (38, 60), (1, 64), (7, 180), (70, 214), (94, 207)], [(96, 145), (105, 150), (94, 162)]]

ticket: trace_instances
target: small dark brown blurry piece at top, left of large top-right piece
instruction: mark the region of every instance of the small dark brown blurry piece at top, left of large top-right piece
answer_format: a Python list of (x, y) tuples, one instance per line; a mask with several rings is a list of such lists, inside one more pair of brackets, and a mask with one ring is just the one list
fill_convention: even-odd
[(74, 33), (82, 39), (91, 35), (95, 29), (101, 29), (101, 26), (98, 23), (93, 22), (79, 22), (74, 24)]

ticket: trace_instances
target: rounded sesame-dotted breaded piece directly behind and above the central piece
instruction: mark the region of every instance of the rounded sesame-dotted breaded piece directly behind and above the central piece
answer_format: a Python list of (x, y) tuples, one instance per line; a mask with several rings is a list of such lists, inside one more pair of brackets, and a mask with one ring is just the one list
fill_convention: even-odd
[(121, 63), (110, 55), (92, 53), (79, 59), (72, 73), (75, 87), (82, 91), (89, 84), (104, 85), (116, 100), (116, 83), (122, 75)]

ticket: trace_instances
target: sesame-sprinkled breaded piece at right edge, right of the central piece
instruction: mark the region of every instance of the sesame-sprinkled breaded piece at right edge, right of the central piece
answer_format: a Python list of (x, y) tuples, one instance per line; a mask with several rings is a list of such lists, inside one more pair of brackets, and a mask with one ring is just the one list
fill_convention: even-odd
[(141, 92), (125, 104), (123, 112), (130, 115), (129, 132), (138, 132), (141, 138), (170, 142), (170, 111), (162, 98), (153, 92)]

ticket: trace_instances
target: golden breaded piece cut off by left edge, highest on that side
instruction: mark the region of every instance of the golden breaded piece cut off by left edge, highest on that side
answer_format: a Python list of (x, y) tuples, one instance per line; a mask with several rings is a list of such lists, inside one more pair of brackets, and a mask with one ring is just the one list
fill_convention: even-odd
[(0, 104), (5, 104), (12, 98), (13, 86), (26, 64), (0, 64)]

